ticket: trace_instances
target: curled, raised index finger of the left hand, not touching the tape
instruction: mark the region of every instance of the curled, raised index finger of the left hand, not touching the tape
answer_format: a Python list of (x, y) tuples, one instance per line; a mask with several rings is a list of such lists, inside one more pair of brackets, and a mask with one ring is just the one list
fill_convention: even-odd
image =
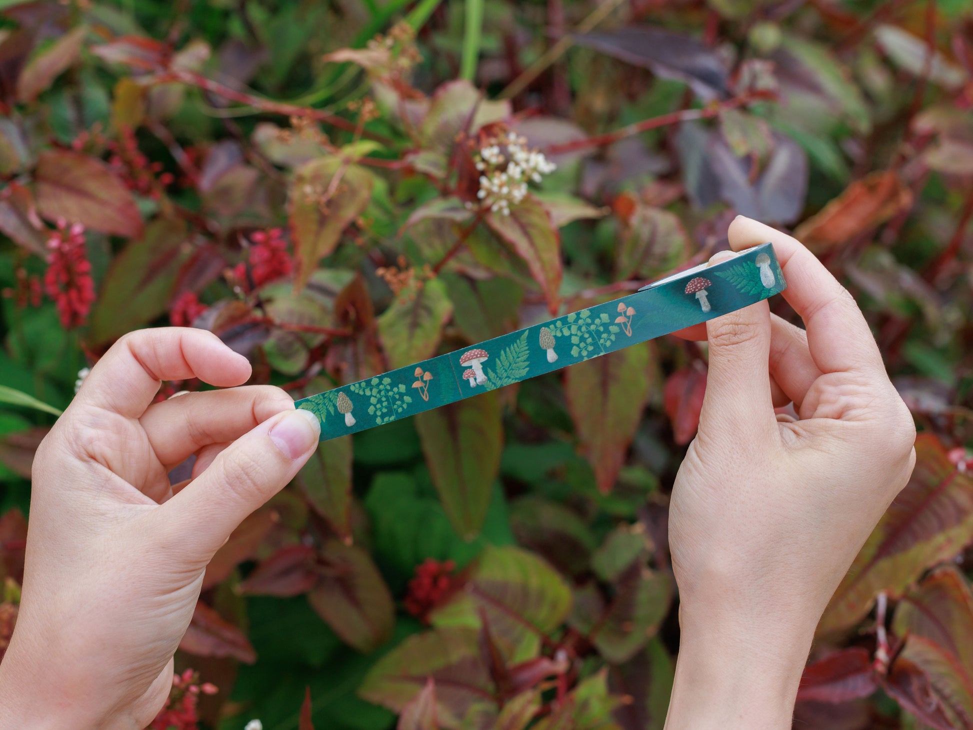
[(162, 381), (198, 378), (230, 387), (250, 377), (250, 362), (216, 335), (192, 327), (136, 330), (113, 345), (91, 368), (77, 398), (137, 419)]

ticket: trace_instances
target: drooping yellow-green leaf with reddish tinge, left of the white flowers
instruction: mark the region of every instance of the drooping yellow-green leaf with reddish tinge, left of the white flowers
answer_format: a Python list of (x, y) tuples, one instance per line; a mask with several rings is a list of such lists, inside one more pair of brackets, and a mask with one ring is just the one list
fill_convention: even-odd
[(334, 155), (298, 167), (290, 190), (298, 288), (304, 287), (317, 262), (335, 250), (344, 229), (361, 215), (372, 199), (374, 184), (367, 169)]

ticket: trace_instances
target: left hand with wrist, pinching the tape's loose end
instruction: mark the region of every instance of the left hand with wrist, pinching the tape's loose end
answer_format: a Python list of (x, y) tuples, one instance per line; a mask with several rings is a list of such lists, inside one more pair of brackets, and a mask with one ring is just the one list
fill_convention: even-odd
[[(320, 427), (265, 385), (152, 401), (162, 380), (249, 377), (246, 358), (183, 328), (126, 335), (91, 369), (34, 459), (0, 730), (141, 730), (162, 708), (206, 564)], [(192, 481), (170, 487), (192, 454)]]

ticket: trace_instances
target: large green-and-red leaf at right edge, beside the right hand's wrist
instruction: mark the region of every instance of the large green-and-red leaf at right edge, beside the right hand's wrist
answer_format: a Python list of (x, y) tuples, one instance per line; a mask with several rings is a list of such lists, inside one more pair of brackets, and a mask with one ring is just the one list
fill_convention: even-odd
[(901, 596), (926, 568), (952, 559), (971, 540), (973, 475), (956, 469), (934, 435), (920, 433), (912, 479), (851, 564), (818, 635), (852, 627), (880, 592)]

